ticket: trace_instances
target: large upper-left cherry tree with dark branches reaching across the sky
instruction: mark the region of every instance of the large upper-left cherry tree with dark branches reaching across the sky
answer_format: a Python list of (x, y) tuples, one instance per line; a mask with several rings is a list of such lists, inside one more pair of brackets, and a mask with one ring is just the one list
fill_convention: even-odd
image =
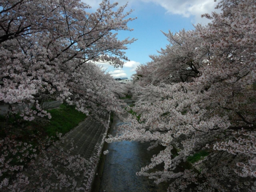
[[(88, 108), (90, 112), (99, 111), (96, 105), (115, 111), (113, 95), (104, 93), (106, 85), (101, 86), (103, 76), (97, 76), (95, 83), (92, 73), (99, 72), (88, 61), (122, 67), (122, 60), (128, 59), (122, 49), (135, 40), (119, 41), (113, 32), (131, 31), (127, 23), (133, 19), (125, 18), (131, 13), (123, 14), (126, 6), (115, 12), (116, 6), (117, 3), (103, 0), (99, 9), (90, 13), (90, 6), (79, 0), (1, 1), (0, 101), (10, 105), (35, 102), (34, 113), (29, 109), (23, 113), (24, 119), (29, 120), (35, 115), (50, 117), (40, 107), (44, 99), (76, 104), (78, 110), (87, 114)], [(95, 97), (103, 94), (105, 99), (91, 97), (96, 84), (96, 92), (102, 90)]]

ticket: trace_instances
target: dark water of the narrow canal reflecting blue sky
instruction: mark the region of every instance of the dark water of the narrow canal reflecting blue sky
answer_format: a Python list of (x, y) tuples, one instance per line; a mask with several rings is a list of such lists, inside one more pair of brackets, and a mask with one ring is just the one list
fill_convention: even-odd
[[(114, 116), (111, 126), (111, 134), (116, 135), (117, 130), (114, 127), (122, 124), (122, 122)], [(136, 172), (140, 168), (148, 165), (153, 154), (160, 151), (155, 148), (147, 151), (149, 143), (137, 142), (115, 142), (108, 144), (108, 151), (102, 181), (100, 184), (100, 192), (166, 192), (167, 183), (156, 185), (147, 177), (136, 176)]]

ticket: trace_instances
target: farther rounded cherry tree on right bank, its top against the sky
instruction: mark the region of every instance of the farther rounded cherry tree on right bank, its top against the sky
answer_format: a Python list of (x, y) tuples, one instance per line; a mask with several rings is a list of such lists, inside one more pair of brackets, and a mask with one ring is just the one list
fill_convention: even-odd
[[(187, 82), (198, 77), (199, 69), (210, 58), (210, 51), (208, 47), (200, 46), (203, 38), (199, 31), (203, 31), (205, 27), (201, 25), (196, 27), (197, 30), (185, 31), (183, 29), (175, 34), (170, 31), (169, 33), (163, 32), (170, 44), (166, 46), (166, 49), (158, 51), (160, 55), (150, 55), (152, 61), (147, 64), (147, 67), (143, 65), (138, 67), (137, 77), (143, 77), (144, 81), (145, 77), (148, 77), (151, 79), (148, 82), (152, 84)], [(147, 68), (150, 74), (143, 74)]]

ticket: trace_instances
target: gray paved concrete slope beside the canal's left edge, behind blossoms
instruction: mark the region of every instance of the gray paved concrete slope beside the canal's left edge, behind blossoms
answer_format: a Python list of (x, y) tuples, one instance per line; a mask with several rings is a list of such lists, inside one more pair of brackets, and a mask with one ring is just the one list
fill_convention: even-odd
[[(109, 123), (110, 114), (105, 112), (104, 114), (100, 115), (102, 119), (104, 119), (106, 122)], [(72, 155), (80, 155), (81, 157), (84, 157), (87, 160), (87, 163), (85, 165), (86, 171), (85, 172), (79, 172), (79, 176), (75, 176), (75, 173), (72, 171), (69, 171), (64, 165), (61, 165), (59, 162), (52, 162), (52, 165), (58, 170), (59, 173), (67, 174), (72, 178), (75, 178), (76, 180), (76, 188), (84, 188), (86, 192), (91, 191), (91, 186), (93, 183), (93, 179), (96, 174), (97, 165), (99, 163), (99, 157), (102, 153), (102, 147), (104, 143), (104, 139), (106, 137), (108, 128), (106, 128), (104, 125), (99, 123), (98, 121), (94, 120), (92, 117), (87, 117), (84, 122), (81, 122), (79, 126), (68, 132), (66, 135), (64, 135), (64, 140), (73, 140), (73, 146), (74, 149), (70, 152)], [(55, 147), (50, 147), (47, 150), (50, 150), (53, 154), (58, 154), (60, 151), (58, 149), (63, 148), (64, 151), (67, 151), (67, 149), (70, 148), (69, 145), (66, 145), (67, 143), (57, 143)], [(76, 147), (77, 146), (77, 147)], [(50, 157), (47, 153), (47, 157)], [(54, 158), (53, 158), (54, 159)], [(40, 170), (39, 170), (40, 171)], [(42, 170), (45, 172), (45, 170)], [(33, 178), (34, 170), (26, 170), (24, 173), (26, 176), (29, 177), (30, 184), (33, 185), (33, 183), (36, 182), (36, 178)], [(47, 174), (47, 172), (45, 172)], [(48, 177), (48, 179), (51, 181), (51, 183), (58, 183), (59, 181), (56, 179), (54, 175), (51, 177)], [(72, 180), (70, 180), (72, 183)], [(32, 187), (32, 186), (31, 186)], [(45, 186), (44, 186), (45, 187)], [(29, 187), (30, 188), (30, 187)], [(32, 187), (33, 188), (33, 187)], [(37, 187), (36, 187), (37, 188)], [(70, 189), (70, 187), (65, 188), (63, 187), (61, 190), (55, 190), (50, 189), (50, 191), (54, 192), (72, 192), (76, 191), (76, 189)], [(79, 190), (84, 191), (84, 190)]]

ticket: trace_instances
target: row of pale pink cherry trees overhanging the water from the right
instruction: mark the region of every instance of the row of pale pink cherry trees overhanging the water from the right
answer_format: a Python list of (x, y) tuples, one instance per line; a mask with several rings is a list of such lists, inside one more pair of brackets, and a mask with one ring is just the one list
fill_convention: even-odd
[[(162, 145), (137, 175), (168, 181), (170, 192), (256, 190), (256, 4), (222, 0), (217, 9), (202, 15), (207, 26), (164, 33), (169, 45), (134, 75), (131, 125), (107, 139)], [(185, 169), (200, 151), (209, 155)]]

